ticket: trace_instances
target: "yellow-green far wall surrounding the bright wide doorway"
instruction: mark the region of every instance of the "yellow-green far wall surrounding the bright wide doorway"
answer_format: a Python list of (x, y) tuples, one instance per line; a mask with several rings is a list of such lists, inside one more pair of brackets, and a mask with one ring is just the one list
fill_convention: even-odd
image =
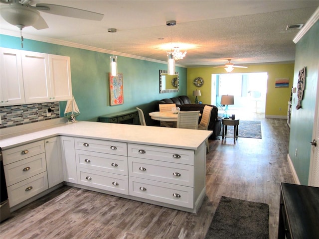
[[(267, 72), (267, 95), (266, 95), (266, 112), (265, 115), (276, 118), (287, 117), (287, 105), (290, 98), (291, 87), (294, 78), (294, 63), (289, 64), (263, 64), (263, 65), (250, 65), (245, 64), (248, 68), (235, 68), (232, 73), (252, 73), (252, 72)], [(195, 89), (201, 91), (200, 100), (203, 104), (210, 104), (211, 102), (211, 75), (212, 74), (225, 74), (224, 68), (216, 67), (194, 67), (187, 68), (187, 95), (195, 100), (192, 92)], [(196, 77), (201, 77), (204, 84), (198, 88), (193, 84)], [(289, 78), (288, 88), (275, 88), (276, 78)], [(280, 111), (280, 108), (282, 109)]]

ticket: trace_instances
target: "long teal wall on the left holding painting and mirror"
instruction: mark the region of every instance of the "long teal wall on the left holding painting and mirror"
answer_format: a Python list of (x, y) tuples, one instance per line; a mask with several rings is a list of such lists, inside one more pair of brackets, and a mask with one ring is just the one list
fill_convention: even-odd
[[(21, 48), (20, 38), (8, 35), (0, 35), (0, 47), (69, 56), (72, 92), (81, 112), (78, 120), (97, 121), (101, 115), (139, 106), (145, 111), (147, 123), (152, 124), (147, 113), (154, 111), (158, 100), (186, 95), (187, 92), (186, 68), (176, 67), (179, 92), (160, 94), (159, 70), (166, 70), (166, 64), (118, 56), (118, 72), (123, 73), (124, 104), (110, 106), (110, 54), (29, 39), (24, 39)], [(66, 102), (60, 103), (60, 112), (64, 112), (65, 105)]]

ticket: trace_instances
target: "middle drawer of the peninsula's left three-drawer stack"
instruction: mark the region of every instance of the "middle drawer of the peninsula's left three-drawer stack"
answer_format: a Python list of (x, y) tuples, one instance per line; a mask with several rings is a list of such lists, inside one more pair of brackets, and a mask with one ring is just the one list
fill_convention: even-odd
[(76, 166), (128, 176), (128, 157), (107, 153), (75, 150)]

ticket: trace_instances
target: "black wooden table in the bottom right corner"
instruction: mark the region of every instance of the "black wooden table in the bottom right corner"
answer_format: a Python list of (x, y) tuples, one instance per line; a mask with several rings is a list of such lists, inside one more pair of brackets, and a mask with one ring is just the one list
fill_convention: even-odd
[(319, 188), (281, 183), (278, 239), (319, 238)]

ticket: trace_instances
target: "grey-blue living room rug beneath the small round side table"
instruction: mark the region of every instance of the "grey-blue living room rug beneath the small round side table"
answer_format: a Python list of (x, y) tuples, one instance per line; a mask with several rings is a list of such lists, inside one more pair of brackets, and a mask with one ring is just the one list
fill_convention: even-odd
[[(222, 135), (222, 130), (220, 135)], [(233, 137), (234, 126), (227, 126), (227, 137)], [(261, 138), (260, 121), (239, 120), (238, 137), (243, 138)]]

